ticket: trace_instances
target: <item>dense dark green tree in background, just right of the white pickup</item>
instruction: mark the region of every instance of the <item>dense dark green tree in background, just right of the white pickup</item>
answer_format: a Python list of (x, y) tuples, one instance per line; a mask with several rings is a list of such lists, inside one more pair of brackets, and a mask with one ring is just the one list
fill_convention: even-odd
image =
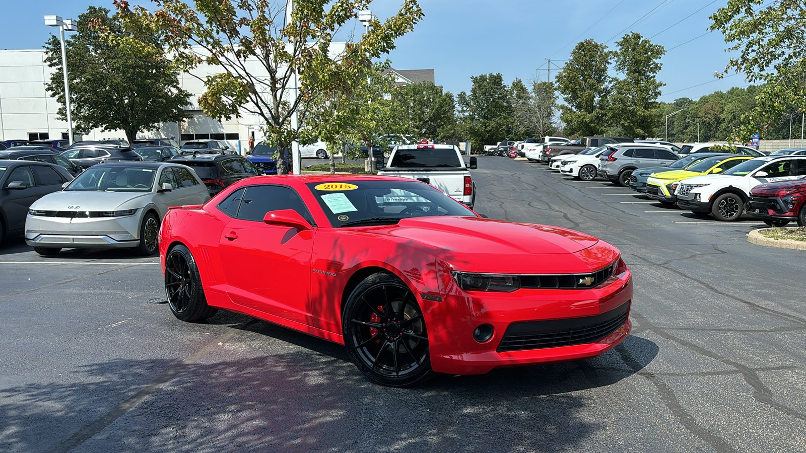
[(460, 130), (472, 148), (501, 141), (513, 134), (513, 110), (509, 90), (501, 73), (472, 76), (470, 94), (459, 93), (456, 102), (462, 114)]

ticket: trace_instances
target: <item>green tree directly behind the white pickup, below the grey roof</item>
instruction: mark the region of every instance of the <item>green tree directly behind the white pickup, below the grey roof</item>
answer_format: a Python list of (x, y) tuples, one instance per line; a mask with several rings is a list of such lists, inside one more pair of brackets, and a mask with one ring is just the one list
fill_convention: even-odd
[(442, 87), (423, 81), (397, 86), (392, 97), (401, 114), (401, 131), (418, 139), (453, 139), (456, 106), (453, 94), (442, 93)]

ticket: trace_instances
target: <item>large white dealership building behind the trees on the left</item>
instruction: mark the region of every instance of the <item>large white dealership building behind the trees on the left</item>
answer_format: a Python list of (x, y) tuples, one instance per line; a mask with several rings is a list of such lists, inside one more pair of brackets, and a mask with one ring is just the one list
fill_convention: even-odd
[[(344, 43), (334, 43), (334, 51), (343, 49)], [(337, 48), (338, 47), (338, 48)], [(0, 51), (0, 139), (68, 139), (67, 122), (56, 118), (60, 107), (45, 89), (54, 69), (44, 62), (44, 50), (2, 50)], [(264, 72), (260, 64), (251, 68)], [(202, 65), (193, 70), (199, 77), (214, 74), (218, 68)], [(434, 81), (433, 69), (397, 70), (392, 69), (396, 84), (405, 85), (418, 81)], [(406, 77), (408, 76), (408, 77)], [(268, 77), (268, 74), (267, 74)], [(235, 150), (247, 149), (249, 136), (254, 133), (261, 138), (261, 119), (255, 114), (243, 113), (240, 118), (232, 118), (222, 123), (208, 117), (198, 106), (198, 98), (205, 88), (201, 80), (191, 73), (183, 73), (180, 85), (192, 95), (192, 105), (185, 107), (190, 118), (182, 123), (164, 123), (158, 131), (140, 132), (139, 139), (176, 136), (181, 142), (193, 139), (226, 140)], [(123, 131), (100, 129), (89, 134), (76, 135), (74, 140), (95, 140), (125, 138)]]

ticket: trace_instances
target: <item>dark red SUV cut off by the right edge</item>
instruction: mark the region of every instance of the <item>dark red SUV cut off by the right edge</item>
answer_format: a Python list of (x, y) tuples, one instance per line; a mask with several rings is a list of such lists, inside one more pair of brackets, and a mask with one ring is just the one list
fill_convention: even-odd
[(769, 226), (784, 226), (797, 220), (806, 226), (806, 179), (770, 182), (750, 190), (747, 214), (762, 218)]

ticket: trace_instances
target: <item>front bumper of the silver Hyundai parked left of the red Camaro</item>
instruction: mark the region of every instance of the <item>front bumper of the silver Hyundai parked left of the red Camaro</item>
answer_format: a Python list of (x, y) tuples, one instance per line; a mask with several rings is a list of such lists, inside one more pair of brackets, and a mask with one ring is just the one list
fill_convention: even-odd
[(25, 220), (25, 243), (31, 247), (126, 248), (139, 244), (139, 210), (114, 218), (41, 217)]

